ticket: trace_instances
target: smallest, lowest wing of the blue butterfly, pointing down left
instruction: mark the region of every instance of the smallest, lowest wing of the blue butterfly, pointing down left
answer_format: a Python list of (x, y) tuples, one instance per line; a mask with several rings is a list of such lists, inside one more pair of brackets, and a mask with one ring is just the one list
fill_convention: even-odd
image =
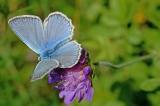
[(38, 79), (42, 79), (46, 74), (48, 74), (51, 70), (54, 68), (57, 68), (59, 66), (59, 63), (57, 60), (54, 59), (45, 59), (41, 60), (32, 75), (31, 81), (35, 81)]

